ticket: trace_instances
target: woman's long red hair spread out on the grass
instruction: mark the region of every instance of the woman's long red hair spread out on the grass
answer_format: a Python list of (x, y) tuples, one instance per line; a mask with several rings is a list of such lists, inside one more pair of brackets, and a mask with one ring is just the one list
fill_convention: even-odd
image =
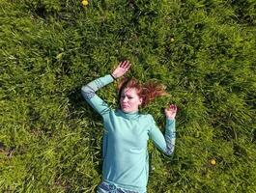
[(165, 86), (156, 83), (153, 80), (147, 81), (144, 84), (139, 83), (139, 81), (132, 77), (130, 79), (122, 77), (118, 83), (118, 101), (120, 102), (122, 91), (126, 88), (134, 88), (137, 90), (137, 95), (142, 97), (141, 107), (145, 107), (151, 101), (153, 101), (156, 96), (169, 96), (165, 92)]

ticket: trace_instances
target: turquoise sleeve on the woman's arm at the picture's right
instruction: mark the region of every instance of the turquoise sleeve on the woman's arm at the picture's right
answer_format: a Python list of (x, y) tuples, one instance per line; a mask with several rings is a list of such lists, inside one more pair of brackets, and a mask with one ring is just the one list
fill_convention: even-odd
[(165, 154), (172, 154), (174, 152), (176, 132), (175, 132), (175, 120), (166, 118), (165, 134), (156, 125), (154, 118), (150, 115), (152, 125), (149, 130), (149, 136), (153, 140), (156, 147)]

